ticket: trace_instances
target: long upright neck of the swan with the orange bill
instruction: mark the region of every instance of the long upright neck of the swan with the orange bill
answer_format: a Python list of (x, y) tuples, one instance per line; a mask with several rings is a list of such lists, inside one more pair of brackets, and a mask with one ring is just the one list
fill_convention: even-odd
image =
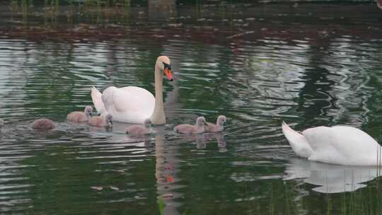
[(152, 124), (166, 124), (166, 116), (163, 110), (163, 72), (158, 62), (155, 64), (155, 108), (151, 115)]

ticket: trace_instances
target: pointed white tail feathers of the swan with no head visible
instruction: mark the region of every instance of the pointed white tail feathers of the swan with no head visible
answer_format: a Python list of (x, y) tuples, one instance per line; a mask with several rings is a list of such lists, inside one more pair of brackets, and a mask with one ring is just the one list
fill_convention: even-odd
[(294, 129), (291, 129), (291, 127), (289, 127), (285, 122), (282, 122), (282, 132), (289, 141), (289, 144), (291, 144), (291, 147), (297, 156), (303, 158), (308, 158), (311, 156), (313, 150), (311, 146), (309, 146), (305, 136), (299, 132), (294, 131)]

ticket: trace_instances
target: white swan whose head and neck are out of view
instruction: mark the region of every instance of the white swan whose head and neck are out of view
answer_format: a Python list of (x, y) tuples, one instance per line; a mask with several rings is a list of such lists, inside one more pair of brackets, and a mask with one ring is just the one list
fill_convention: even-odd
[(369, 134), (349, 126), (313, 127), (295, 132), (285, 122), (282, 132), (297, 156), (340, 165), (381, 165), (381, 146)]

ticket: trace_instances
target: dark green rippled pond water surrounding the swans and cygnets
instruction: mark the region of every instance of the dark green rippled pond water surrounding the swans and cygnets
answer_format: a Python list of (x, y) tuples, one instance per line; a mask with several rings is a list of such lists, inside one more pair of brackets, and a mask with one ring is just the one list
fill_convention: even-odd
[[(381, 213), (379, 170), (296, 158), (280, 126), (349, 124), (381, 140), (374, 4), (132, 7), (108, 21), (1, 10), (1, 213), (159, 214), (158, 199), (165, 214)], [(92, 104), (91, 86), (154, 93), (161, 54), (175, 81), (156, 134), (66, 122)], [(221, 114), (222, 134), (172, 132)], [(33, 131), (37, 117), (57, 129)]]

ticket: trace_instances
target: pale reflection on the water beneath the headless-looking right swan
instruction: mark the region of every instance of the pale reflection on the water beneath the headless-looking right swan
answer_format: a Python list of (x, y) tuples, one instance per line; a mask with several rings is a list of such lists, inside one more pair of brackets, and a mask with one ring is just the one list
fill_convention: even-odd
[(316, 192), (337, 193), (366, 187), (362, 183), (378, 177), (378, 167), (333, 165), (293, 158), (285, 173), (284, 180), (303, 179), (303, 182), (318, 185), (313, 188)]

